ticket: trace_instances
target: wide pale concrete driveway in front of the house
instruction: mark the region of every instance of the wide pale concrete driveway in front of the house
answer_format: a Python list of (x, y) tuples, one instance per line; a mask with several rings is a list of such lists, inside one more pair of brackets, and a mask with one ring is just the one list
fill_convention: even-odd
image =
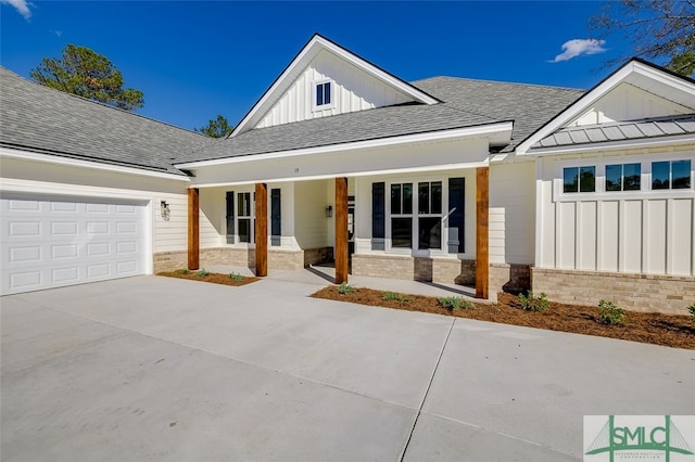
[(695, 351), (141, 277), (0, 299), (3, 461), (581, 460)]

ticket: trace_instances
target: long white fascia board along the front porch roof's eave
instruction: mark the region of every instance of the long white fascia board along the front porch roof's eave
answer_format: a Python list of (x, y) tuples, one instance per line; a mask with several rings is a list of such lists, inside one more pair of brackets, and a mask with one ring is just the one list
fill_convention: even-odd
[(212, 161), (191, 162), (186, 164), (176, 164), (176, 168), (195, 169), (205, 167), (215, 167), (228, 164), (241, 164), (249, 162), (268, 161), (282, 157), (296, 157), (303, 155), (336, 153), (342, 151), (353, 151), (372, 147), (386, 147), (399, 144), (422, 143), (431, 141), (452, 140), (456, 138), (467, 138), (476, 136), (494, 134), (501, 132), (511, 133), (514, 123), (503, 121), (497, 124), (482, 125), (476, 127), (458, 128), (443, 131), (429, 131), (427, 133), (405, 134), (402, 137), (380, 138), (378, 140), (356, 141), (353, 143), (332, 144), (328, 146), (306, 147), (301, 150), (279, 151), (266, 154), (251, 154), (237, 157), (224, 157)]

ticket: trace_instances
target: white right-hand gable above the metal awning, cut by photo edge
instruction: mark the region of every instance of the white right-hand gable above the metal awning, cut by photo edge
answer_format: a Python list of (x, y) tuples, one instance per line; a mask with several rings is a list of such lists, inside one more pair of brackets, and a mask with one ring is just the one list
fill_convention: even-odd
[(569, 130), (581, 134), (581, 129), (572, 127), (615, 125), (694, 112), (695, 81), (633, 59), (528, 137), (516, 153), (532, 154), (530, 150), (541, 147), (541, 141), (554, 133)]

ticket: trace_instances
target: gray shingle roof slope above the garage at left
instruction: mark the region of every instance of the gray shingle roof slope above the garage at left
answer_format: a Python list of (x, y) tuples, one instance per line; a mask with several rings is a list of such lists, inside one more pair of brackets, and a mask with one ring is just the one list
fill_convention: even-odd
[(172, 159), (214, 141), (52, 90), (0, 66), (0, 145), (184, 175)]

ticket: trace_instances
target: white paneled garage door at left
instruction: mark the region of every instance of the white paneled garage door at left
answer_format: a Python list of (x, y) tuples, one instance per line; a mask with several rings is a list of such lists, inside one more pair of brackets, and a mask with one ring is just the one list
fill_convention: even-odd
[(0, 217), (2, 295), (146, 271), (142, 202), (3, 194)]

